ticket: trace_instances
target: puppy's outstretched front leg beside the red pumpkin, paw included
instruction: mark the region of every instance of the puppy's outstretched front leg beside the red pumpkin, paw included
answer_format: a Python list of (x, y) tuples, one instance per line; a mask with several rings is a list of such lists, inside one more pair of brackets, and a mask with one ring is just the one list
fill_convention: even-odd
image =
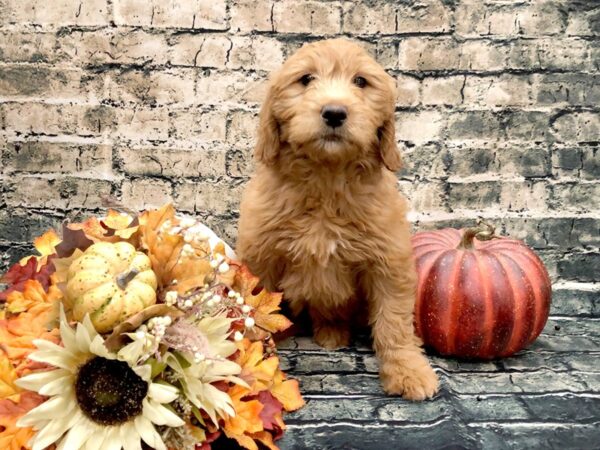
[(437, 392), (439, 382), (414, 333), (415, 286), (409, 257), (376, 264), (363, 277), (383, 389), (408, 400), (424, 400)]

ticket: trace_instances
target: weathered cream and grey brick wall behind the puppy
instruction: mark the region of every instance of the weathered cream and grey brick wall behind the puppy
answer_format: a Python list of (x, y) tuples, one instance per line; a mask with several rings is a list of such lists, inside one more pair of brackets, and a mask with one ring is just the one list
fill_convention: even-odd
[(173, 200), (235, 241), (269, 71), (361, 42), (398, 80), (417, 229), (524, 238), (554, 313), (600, 309), (600, 5), (504, 0), (0, 0), (0, 269), (99, 194)]

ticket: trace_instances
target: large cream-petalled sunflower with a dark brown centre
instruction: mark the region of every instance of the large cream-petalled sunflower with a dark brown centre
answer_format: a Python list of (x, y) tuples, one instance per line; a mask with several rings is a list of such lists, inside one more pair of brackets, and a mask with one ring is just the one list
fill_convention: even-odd
[(17, 423), (37, 430), (29, 442), (32, 450), (53, 443), (57, 450), (140, 450), (140, 440), (166, 450), (154, 426), (185, 423), (164, 406), (179, 396), (178, 389), (152, 382), (151, 366), (138, 364), (139, 355), (129, 346), (109, 352), (87, 316), (73, 329), (61, 308), (60, 335), (64, 347), (37, 339), (38, 350), (29, 355), (55, 369), (16, 381), (49, 397)]

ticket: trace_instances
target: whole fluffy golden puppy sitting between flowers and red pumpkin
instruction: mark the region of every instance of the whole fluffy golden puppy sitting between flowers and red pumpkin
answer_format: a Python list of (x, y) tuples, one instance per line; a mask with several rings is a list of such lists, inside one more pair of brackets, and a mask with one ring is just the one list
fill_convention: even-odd
[[(422, 400), (438, 380), (413, 329), (416, 273), (394, 129), (395, 82), (345, 40), (304, 45), (273, 74), (260, 112), (256, 173), (237, 251), (315, 341), (346, 346), (372, 326), (383, 388)], [(368, 308), (366, 307), (368, 306)]]

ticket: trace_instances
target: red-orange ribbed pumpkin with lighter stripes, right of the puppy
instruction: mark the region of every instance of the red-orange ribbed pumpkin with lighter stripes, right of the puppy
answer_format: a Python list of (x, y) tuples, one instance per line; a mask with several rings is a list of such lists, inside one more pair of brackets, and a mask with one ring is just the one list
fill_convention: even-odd
[(541, 333), (551, 283), (523, 242), (489, 225), (413, 236), (419, 284), (415, 328), (442, 355), (493, 359), (518, 352)]

